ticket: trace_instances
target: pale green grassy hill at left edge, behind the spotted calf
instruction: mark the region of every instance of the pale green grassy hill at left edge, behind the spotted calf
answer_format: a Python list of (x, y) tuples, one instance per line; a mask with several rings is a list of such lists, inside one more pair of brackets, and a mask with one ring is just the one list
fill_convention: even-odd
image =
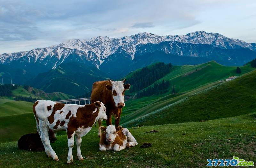
[(32, 106), (33, 103), (27, 101), (0, 99), (0, 117), (32, 112)]

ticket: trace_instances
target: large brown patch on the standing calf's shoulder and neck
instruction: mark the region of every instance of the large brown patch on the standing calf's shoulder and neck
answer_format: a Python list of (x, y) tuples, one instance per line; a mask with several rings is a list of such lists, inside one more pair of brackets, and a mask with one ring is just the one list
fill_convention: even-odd
[(100, 110), (97, 108), (96, 113), (92, 113), (95, 110), (94, 104), (88, 104), (84, 107), (80, 107), (76, 111), (76, 117), (73, 115), (69, 118), (68, 122), (68, 139), (71, 138), (72, 134), (78, 129), (84, 126), (84, 128), (92, 127), (96, 117), (98, 116)]

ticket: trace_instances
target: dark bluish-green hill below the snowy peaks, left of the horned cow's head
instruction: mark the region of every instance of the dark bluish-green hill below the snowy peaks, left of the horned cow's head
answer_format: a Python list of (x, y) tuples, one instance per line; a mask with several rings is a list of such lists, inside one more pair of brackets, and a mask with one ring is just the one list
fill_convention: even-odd
[(45, 92), (63, 92), (78, 96), (90, 92), (93, 82), (104, 80), (106, 76), (108, 75), (96, 67), (69, 62), (37, 75), (27, 84)]

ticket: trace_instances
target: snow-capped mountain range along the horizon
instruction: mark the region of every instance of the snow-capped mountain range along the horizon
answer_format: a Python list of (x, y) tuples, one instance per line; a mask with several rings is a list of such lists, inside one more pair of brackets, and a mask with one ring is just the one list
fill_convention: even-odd
[[(7, 64), (14, 60), (23, 63), (40, 63), (47, 67), (56, 68), (65, 60), (89, 61), (97, 68), (112, 54), (125, 52), (133, 60), (139, 45), (159, 44), (173, 41), (191, 44), (209, 44), (224, 49), (248, 48), (256, 51), (255, 43), (246, 43), (218, 33), (197, 31), (182, 36), (158, 36), (151, 33), (138, 33), (132, 36), (109, 38), (98, 36), (91, 39), (70, 39), (57, 45), (25, 52), (4, 53), (0, 55), (0, 63)], [(171, 46), (170, 46), (171, 47)], [(169, 52), (166, 52), (169, 53)], [(179, 56), (182, 56), (179, 55)], [(193, 54), (191, 55), (193, 56)]]

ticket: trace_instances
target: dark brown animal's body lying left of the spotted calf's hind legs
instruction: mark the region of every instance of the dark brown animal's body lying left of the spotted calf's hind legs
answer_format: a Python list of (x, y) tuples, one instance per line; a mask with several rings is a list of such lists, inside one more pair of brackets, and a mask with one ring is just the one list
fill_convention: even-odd
[(23, 150), (44, 151), (44, 145), (38, 133), (23, 135), (18, 140), (18, 147)]

